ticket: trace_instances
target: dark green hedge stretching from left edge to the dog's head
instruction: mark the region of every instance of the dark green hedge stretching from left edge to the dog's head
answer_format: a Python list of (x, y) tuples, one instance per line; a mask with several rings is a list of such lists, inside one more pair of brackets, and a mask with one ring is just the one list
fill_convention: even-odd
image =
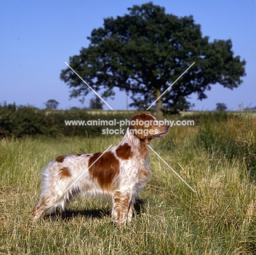
[[(69, 135), (100, 135), (102, 129), (113, 126), (66, 126), (67, 120), (113, 120), (117, 122), (125, 117), (130, 119), (131, 114), (90, 114), (86, 109), (47, 111), (32, 108), (31, 106), (0, 105), (0, 137), (23, 137), (25, 135), (47, 135), (50, 137)], [(119, 126), (114, 126), (119, 128)], [(125, 128), (125, 127), (123, 127)]]

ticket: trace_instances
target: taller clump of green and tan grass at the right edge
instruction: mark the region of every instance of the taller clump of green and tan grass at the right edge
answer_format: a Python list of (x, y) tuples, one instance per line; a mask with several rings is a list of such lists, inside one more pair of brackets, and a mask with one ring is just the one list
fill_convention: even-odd
[[(215, 117), (215, 118), (214, 118)], [(218, 123), (214, 123), (214, 121)], [(245, 164), (253, 177), (256, 176), (256, 119), (250, 114), (243, 116), (209, 116), (201, 122), (197, 144), (214, 158), (238, 159)]]

